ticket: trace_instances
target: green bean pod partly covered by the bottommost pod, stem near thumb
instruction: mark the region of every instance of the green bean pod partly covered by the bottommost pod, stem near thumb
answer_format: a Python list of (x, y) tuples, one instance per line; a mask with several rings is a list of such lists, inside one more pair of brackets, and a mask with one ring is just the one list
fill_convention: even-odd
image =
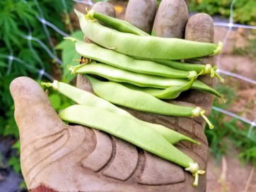
[(182, 135), (181, 133), (173, 131), (170, 128), (166, 128), (165, 126), (161, 126), (158, 124), (151, 124), (149, 122), (136, 119), (136, 117), (132, 116), (132, 114), (129, 114), (129, 112), (115, 106), (115, 104), (112, 104), (110, 102), (107, 102), (106, 100), (103, 100), (100, 97), (97, 97), (96, 95), (93, 95), (91, 92), (78, 89), (72, 85), (62, 83), (57, 80), (54, 80), (53, 83), (41, 83), (41, 84), (47, 86), (47, 88), (52, 87), (54, 90), (57, 90), (58, 92), (62, 93), (62, 95), (69, 97), (69, 99), (73, 100), (77, 104), (83, 104), (91, 107), (99, 107), (107, 110), (108, 112), (112, 112), (114, 114), (119, 114), (122, 116), (127, 116), (127, 118), (135, 119), (140, 124), (144, 124), (146, 126), (149, 126), (149, 128), (153, 128), (156, 132), (161, 134), (163, 138), (168, 140), (168, 142), (173, 145), (175, 143), (178, 143), (180, 140), (187, 140), (194, 144), (198, 144), (198, 145), (200, 144), (196, 140), (193, 140), (190, 137), (187, 137), (185, 135)]

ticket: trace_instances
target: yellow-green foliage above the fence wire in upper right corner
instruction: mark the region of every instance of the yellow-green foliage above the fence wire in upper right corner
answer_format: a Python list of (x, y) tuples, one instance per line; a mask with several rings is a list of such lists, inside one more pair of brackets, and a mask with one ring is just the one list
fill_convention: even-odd
[[(210, 16), (221, 15), (228, 18), (231, 15), (232, 0), (191, 0), (189, 11), (208, 13)], [(235, 1), (233, 6), (233, 20), (235, 23), (256, 25), (256, 1)]]

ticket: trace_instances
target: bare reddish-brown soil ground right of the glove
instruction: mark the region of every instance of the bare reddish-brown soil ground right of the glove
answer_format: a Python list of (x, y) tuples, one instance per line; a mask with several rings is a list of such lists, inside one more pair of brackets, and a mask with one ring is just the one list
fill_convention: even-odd
[[(223, 42), (227, 33), (226, 44), (224, 44), (223, 52), (218, 58), (219, 68), (256, 80), (256, 61), (249, 56), (233, 54), (234, 47), (243, 49), (247, 46), (247, 30), (236, 28), (228, 32), (227, 28), (215, 27), (215, 41)], [(237, 78), (223, 77), (229, 78), (224, 85), (237, 90), (238, 98), (228, 110), (254, 121), (256, 117), (256, 85)], [(250, 102), (252, 105), (249, 106)], [(214, 157), (209, 157), (207, 192), (256, 191), (255, 167), (250, 164), (241, 164), (237, 156), (238, 152), (230, 145), (228, 154), (222, 157), (219, 165), (216, 165)]]

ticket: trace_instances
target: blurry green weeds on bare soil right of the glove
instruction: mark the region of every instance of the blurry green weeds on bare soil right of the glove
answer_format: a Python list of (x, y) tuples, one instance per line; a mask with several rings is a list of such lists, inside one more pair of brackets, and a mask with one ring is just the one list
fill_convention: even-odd
[[(233, 104), (235, 92), (231, 88), (224, 85), (217, 87), (217, 90), (226, 97), (226, 104), (220, 104), (214, 101), (214, 106), (228, 109)], [(240, 152), (240, 160), (251, 162), (256, 165), (256, 131), (252, 131), (250, 136), (248, 124), (241, 125), (238, 119), (227, 119), (225, 114), (221, 112), (211, 111), (210, 121), (214, 124), (214, 130), (206, 128), (205, 133), (209, 141), (210, 152), (216, 157), (216, 161), (221, 160), (221, 155), (225, 155), (231, 146)], [(232, 145), (231, 145), (232, 143)]]

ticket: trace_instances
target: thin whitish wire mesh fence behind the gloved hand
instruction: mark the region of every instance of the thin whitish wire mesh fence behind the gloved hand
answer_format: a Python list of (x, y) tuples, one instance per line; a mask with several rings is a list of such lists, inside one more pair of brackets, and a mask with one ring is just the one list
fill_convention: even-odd
[[(22, 1), (23, 1), (23, 4), (28, 4), (28, 2), (26, 0), (22, 0)], [(86, 4), (88, 6), (93, 5), (93, 1), (91, 1), (91, 0), (88, 0), (88, 1), (86, 1), (86, 0), (73, 0), (73, 1), (75, 1), (78, 4)], [(240, 24), (237, 24), (237, 23), (233, 23), (233, 5), (235, 4), (235, 1), (236, 0), (233, 0), (232, 4), (231, 4), (231, 16), (229, 18), (229, 22), (228, 23), (221, 23), (221, 22), (214, 23), (215, 26), (221, 26), (223, 28), (228, 28), (228, 30), (226, 32), (226, 35), (222, 40), (223, 47), (225, 47), (225, 45), (228, 41), (228, 37), (231, 35), (231, 31), (233, 30), (233, 28), (245, 28), (245, 29), (256, 30), (256, 26), (240, 25)], [(38, 20), (40, 20), (40, 23), (42, 23), (42, 29), (45, 32), (45, 35), (47, 36), (48, 42), (42, 42), (41, 40), (32, 36), (32, 32), (31, 32), (31, 29), (30, 29), (30, 25), (28, 24), (28, 20), (24, 20), (28, 33), (27, 33), (27, 35), (21, 35), (21, 37), (25, 40), (28, 40), (28, 49), (30, 49), (30, 52), (32, 52), (33, 55), (36, 57), (38, 63), (40, 64), (40, 68), (35, 68), (34, 66), (31, 66), (27, 62), (25, 62), (22, 59), (18, 58), (17, 56), (13, 55), (12, 49), (9, 50), (10, 54), (8, 54), (8, 55), (0, 54), (0, 57), (8, 60), (8, 68), (7, 68), (6, 73), (11, 73), (11, 68), (12, 68), (12, 65), (13, 65), (13, 61), (17, 61), (19, 64), (23, 65), (25, 68), (29, 68), (34, 73), (37, 73), (39, 80), (42, 78), (42, 76), (45, 76), (45, 78), (48, 78), (49, 80), (53, 80), (53, 77), (45, 71), (45, 66), (44, 66), (42, 60), (40, 59), (40, 56), (38, 56), (37, 53), (35, 52), (35, 49), (33, 48), (33, 45), (32, 45), (31, 42), (32, 41), (37, 42), (37, 44), (39, 44), (43, 49), (45, 49), (45, 52), (47, 52), (47, 54), (50, 56), (50, 58), (54, 59), (54, 61), (56, 61), (58, 64), (62, 65), (62, 60), (58, 58), (57, 53), (54, 49), (54, 43), (52, 42), (52, 38), (50, 37), (50, 32), (49, 32), (48, 28), (52, 28), (53, 30), (55, 30), (57, 33), (59, 33), (60, 35), (62, 35), (64, 37), (69, 36), (69, 34), (66, 34), (66, 32), (63, 32), (62, 30), (59, 30), (59, 28), (57, 28), (57, 26), (55, 26), (54, 24), (45, 20), (45, 15), (42, 11), (42, 8), (38, 4), (37, 0), (34, 0), (34, 2), (35, 2), (36, 8), (37, 8), (37, 13), (38, 13), (35, 17)], [(63, 8), (64, 8), (64, 12), (68, 13), (65, 0), (62, 0), (62, 5), (63, 5)], [(28, 5), (28, 8), (30, 8), (29, 5)], [(219, 66), (219, 69), (217, 70), (218, 73), (222, 73), (226, 76), (231, 76), (231, 78), (237, 78), (237, 79), (243, 80), (247, 83), (251, 83), (252, 85), (256, 85), (256, 80), (255, 79), (250, 79), (250, 78), (247, 78), (247, 77), (245, 77), (241, 74), (233, 73), (231, 71), (226, 71), (223, 68), (221, 68), (222, 64), (221, 64), (221, 61), (220, 61), (220, 56), (221, 56), (221, 54), (217, 57), (217, 66)], [(229, 112), (229, 111), (227, 111), (225, 109), (221, 109), (219, 107), (214, 106), (214, 107), (212, 107), (212, 109), (216, 110), (217, 112), (226, 114), (228, 116), (232, 116), (236, 119), (239, 119), (240, 121), (243, 121), (243, 122), (249, 124), (250, 129), (248, 131), (248, 136), (250, 136), (250, 134), (252, 133), (253, 128), (255, 128), (255, 126), (256, 126), (256, 116), (255, 116), (255, 119), (245, 119), (243, 116), (240, 116), (238, 114), (234, 114), (233, 112)]]

